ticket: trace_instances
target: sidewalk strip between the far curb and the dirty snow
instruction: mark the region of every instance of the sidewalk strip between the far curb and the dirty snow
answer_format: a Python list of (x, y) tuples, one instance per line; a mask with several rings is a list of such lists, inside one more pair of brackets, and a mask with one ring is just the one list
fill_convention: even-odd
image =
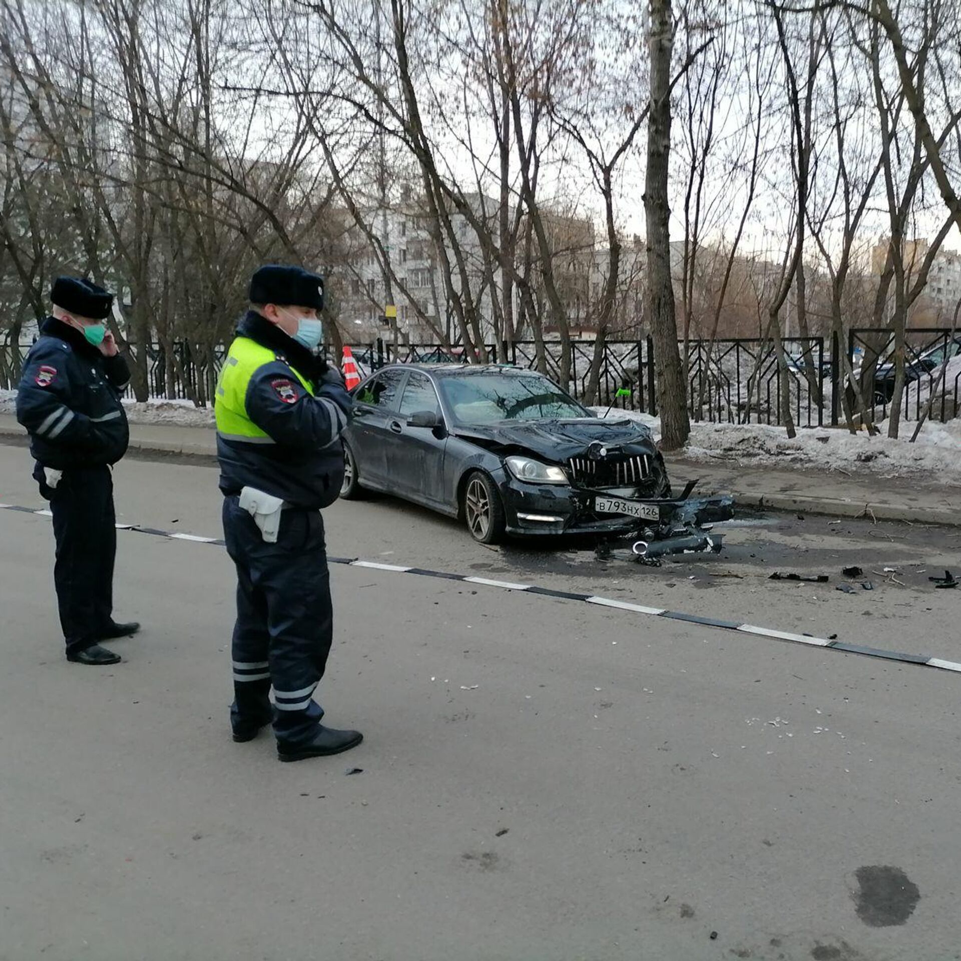
[[(131, 449), (142, 454), (216, 455), (214, 433), (208, 428), (132, 424), (130, 431)], [(3, 414), (0, 441), (5, 436), (23, 437), (24, 431), (15, 418)], [(956, 488), (916, 480), (885, 480), (868, 473), (848, 478), (798, 468), (739, 468), (729, 461), (705, 463), (676, 456), (668, 456), (667, 461), (676, 490), (685, 480), (700, 478), (700, 493), (733, 494), (745, 507), (961, 527), (961, 497)]]

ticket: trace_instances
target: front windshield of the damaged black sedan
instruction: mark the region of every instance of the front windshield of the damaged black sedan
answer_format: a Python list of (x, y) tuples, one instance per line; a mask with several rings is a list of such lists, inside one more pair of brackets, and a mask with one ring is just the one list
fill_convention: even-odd
[(531, 374), (466, 374), (440, 379), (440, 390), (458, 424), (479, 426), (504, 420), (590, 417), (546, 378)]

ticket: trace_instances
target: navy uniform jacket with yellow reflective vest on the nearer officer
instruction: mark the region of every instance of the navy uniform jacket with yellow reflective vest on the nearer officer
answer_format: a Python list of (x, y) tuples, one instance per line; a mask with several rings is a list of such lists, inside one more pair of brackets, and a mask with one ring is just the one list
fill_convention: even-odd
[[(233, 495), (255, 487), (311, 510), (333, 504), (344, 476), (340, 435), (353, 409), (339, 372), (256, 311), (247, 313), (236, 333), (266, 348), (267, 354), (266, 362), (251, 371), (249, 382), (240, 385), (242, 411), (220, 409), (234, 394), (231, 389), (223, 392), (230, 356), (221, 374), (214, 402), (221, 491)], [(242, 354), (238, 346), (234, 342), (232, 354)], [(313, 396), (297, 374), (308, 381)], [(265, 436), (244, 437), (230, 430), (228, 425), (242, 424), (243, 419)]]

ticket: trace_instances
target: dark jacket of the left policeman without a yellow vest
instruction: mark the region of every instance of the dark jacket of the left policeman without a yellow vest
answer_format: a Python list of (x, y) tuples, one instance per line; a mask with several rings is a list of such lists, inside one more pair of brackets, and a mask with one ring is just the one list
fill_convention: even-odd
[(16, 419), (30, 431), (37, 461), (68, 470), (124, 456), (130, 431), (120, 392), (129, 380), (123, 357), (104, 357), (83, 333), (47, 317), (16, 395)]

